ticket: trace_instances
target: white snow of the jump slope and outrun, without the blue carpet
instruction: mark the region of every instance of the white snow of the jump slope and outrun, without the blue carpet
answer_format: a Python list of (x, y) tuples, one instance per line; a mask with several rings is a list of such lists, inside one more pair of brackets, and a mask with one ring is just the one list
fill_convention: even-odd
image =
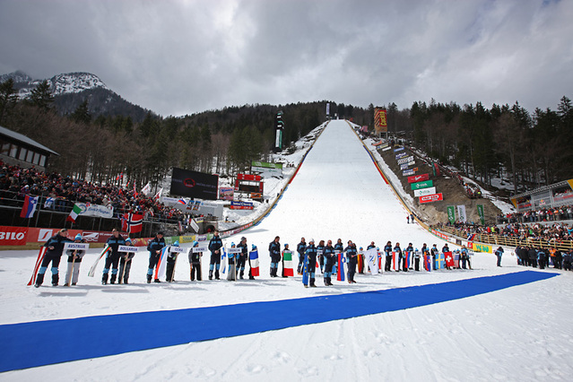
[[(495, 266), (495, 256), (476, 254), (472, 271), (360, 274), (356, 284), (334, 281), (333, 287), (318, 277), (315, 289), (303, 288), (300, 276), (268, 275), (267, 247), (276, 235), (291, 248), (303, 236), (352, 239), (359, 247), (370, 241), (383, 247), (387, 240), (403, 247), (443, 245), (420, 226), (406, 224), (405, 217), (404, 206), (349, 125), (332, 121), (273, 212), (256, 227), (224, 239), (229, 245), (245, 236), (249, 246), (259, 247), (262, 275), (256, 281), (190, 282), (187, 259), (181, 258), (177, 282), (147, 284), (142, 253), (135, 257), (129, 285), (101, 286), (101, 265), (95, 278), (86, 276), (94, 249), (83, 260), (79, 285), (35, 289), (25, 284), (37, 253), (5, 251), (0, 253), (0, 324), (378, 291), (524, 269), (508, 250), (502, 267)], [(9, 371), (0, 380), (570, 380), (572, 301), (573, 273), (562, 273), (420, 308)], [(114, 341), (114, 333), (101, 335)]]

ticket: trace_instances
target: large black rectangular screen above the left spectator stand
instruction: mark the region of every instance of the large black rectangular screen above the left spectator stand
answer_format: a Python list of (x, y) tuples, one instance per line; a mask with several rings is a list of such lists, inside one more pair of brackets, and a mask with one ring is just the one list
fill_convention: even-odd
[(188, 169), (173, 168), (171, 177), (171, 195), (187, 196), (192, 198), (217, 200), (219, 176), (204, 174), (203, 172)]

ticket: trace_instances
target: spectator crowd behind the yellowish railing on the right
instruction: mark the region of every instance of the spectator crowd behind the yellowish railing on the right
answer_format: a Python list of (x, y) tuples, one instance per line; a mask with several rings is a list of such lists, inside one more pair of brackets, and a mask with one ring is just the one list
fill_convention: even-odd
[(573, 240), (573, 226), (564, 222), (555, 222), (551, 225), (540, 223), (507, 223), (501, 227), (498, 226), (481, 226), (473, 223), (456, 222), (454, 224), (438, 223), (436, 228), (443, 226), (451, 227), (464, 232), (464, 236), (469, 237), (473, 234), (492, 234), (511, 239), (534, 239), (548, 242), (560, 242)]

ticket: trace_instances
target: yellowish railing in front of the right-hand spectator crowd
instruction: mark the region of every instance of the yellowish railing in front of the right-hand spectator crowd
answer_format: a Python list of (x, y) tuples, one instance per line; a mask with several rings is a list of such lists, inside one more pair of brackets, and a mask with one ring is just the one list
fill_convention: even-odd
[[(465, 239), (467, 238), (467, 232), (464, 230), (456, 230), (452, 227), (441, 226), (436, 228), (437, 230), (441, 230), (457, 236), (458, 238)], [(518, 238), (508, 238), (505, 236), (494, 235), (494, 234), (487, 234), (487, 233), (478, 233), (473, 238), (473, 241), (483, 243), (483, 244), (492, 244), (495, 246), (506, 246), (506, 247), (541, 247), (545, 249), (555, 248), (560, 249), (561, 251), (573, 249), (573, 241), (571, 240), (555, 240), (555, 239), (532, 239), (532, 238), (525, 238), (525, 239), (518, 239)]]

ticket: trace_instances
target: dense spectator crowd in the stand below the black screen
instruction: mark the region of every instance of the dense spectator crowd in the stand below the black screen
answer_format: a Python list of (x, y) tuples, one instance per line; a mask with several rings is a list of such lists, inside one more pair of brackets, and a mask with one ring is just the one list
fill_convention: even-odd
[(183, 221), (186, 218), (185, 213), (177, 208), (162, 204), (141, 192), (135, 193), (133, 187), (98, 184), (34, 168), (22, 169), (0, 160), (2, 204), (10, 204), (14, 199), (23, 200), (25, 195), (54, 198), (49, 208), (60, 212), (69, 212), (74, 202), (80, 202), (110, 205), (117, 215), (139, 212), (143, 213), (146, 219), (153, 216), (161, 220)]

